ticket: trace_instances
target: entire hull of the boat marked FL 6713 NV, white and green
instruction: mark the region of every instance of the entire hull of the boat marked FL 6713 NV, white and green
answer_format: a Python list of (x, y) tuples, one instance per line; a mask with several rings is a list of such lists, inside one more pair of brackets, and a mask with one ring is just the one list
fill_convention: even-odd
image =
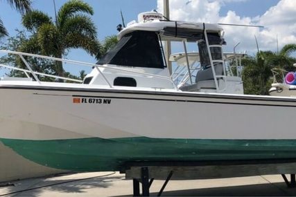
[(46, 86), (1, 86), (0, 95), (3, 144), (58, 169), (296, 159), (293, 98)]

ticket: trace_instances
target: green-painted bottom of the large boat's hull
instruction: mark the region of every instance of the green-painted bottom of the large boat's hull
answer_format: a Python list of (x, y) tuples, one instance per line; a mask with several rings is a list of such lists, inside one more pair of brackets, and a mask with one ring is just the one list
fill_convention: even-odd
[(135, 161), (296, 159), (296, 140), (0, 140), (28, 160), (72, 171), (118, 171)]

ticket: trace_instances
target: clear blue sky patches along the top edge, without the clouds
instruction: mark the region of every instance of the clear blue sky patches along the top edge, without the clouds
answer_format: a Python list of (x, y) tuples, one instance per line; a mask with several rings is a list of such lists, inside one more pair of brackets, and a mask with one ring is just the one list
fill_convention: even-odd
[[(55, 0), (57, 10), (67, 0)], [(107, 35), (116, 34), (116, 26), (121, 23), (120, 10), (125, 17), (125, 23), (137, 19), (140, 12), (146, 12), (157, 8), (157, 1), (153, 0), (85, 0), (94, 8), (93, 20), (98, 28), (98, 37), (103, 39)], [(246, 17), (256, 17), (263, 15), (268, 8), (275, 6), (279, 0), (249, 0), (249, 1), (229, 1), (221, 6), (220, 15), (226, 15), (228, 10), (234, 10), (237, 15)], [(5, 24), (10, 35), (15, 35), (15, 28), (21, 29), (21, 16), (10, 8), (8, 3), (1, 1), (0, 17)], [(35, 0), (33, 8), (42, 10), (49, 16), (54, 17), (53, 0)]]

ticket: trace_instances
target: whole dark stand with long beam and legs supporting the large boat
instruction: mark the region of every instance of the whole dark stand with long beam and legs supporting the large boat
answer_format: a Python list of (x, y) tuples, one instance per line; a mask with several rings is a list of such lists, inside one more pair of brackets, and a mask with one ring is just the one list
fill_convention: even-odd
[[(153, 180), (164, 180), (161, 196), (169, 180), (198, 180), (281, 174), (287, 187), (296, 187), (296, 160), (248, 160), (209, 162), (130, 162), (121, 171), (133, 182), (133, 196), (150, 196)], [(288, 180), (286, 174), (290, 174)], [(140, 183), (141, 191), (140, 194)]]

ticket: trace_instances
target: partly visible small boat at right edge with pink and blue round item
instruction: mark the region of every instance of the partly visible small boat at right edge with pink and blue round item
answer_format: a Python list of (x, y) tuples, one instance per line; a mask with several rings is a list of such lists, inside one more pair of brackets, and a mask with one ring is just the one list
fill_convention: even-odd
[[(293, 64), (296, 67), (296, 64)], [(295, 73), (272, 68), (273, 82), (269, 94), (279, 97), (296, 97)]]

